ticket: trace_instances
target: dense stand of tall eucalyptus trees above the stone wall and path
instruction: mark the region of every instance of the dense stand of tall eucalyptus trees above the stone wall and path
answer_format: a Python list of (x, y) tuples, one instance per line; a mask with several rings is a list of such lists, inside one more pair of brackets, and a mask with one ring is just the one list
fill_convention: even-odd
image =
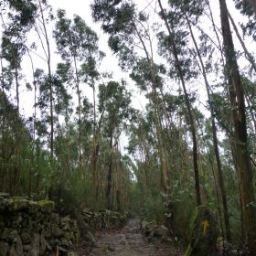
[(110, 72), (82, 16), (0, 0), (0, 190), (158, 222), (171, 206), (177, 237), (206, 204), (223, 239), (255, 245), (256, 3), (228, 7), (91, 1)]

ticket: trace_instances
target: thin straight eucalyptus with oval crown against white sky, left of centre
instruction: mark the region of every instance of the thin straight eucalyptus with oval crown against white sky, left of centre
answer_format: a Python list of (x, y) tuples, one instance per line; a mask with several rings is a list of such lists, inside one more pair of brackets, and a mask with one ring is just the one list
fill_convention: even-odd
[[(54, 37), (61, 58), (69, 64), (70, 72), (73, 74), (69, 83), (74, 82), (78, 95), (79, 115), (79, 161), (81, 165), (81, 108), (82, 108), (82, 81), (88, 81), (88, 77), (97, 76), (97, 72), (90, 63), (95, 63), (102, 54), (98, 48), (98, 37), (90, 27), (86, 25), (80, 16), (74, 16), (73, 20), (66, 17), (64, 10), (58, 11), (58, 20), (54, 30)], [(101, 56), (100, 56), (101, 55)], [(91, 69), (89, 69), (91, 67)], [(88, 70), (94, 70), (92, 74)], [(86, 78), (87, 76), (87, 78)], [(91, 77), (91, 79), (93, 79)]]

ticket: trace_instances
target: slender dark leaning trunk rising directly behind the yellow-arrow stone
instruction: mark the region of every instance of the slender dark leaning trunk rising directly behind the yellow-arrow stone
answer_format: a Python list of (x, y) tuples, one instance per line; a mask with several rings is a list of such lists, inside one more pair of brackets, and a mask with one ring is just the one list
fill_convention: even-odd
[(162, 6), (161, 0), (158, 0), (158, 4), (161, 9), (160, 16), (164, 19), (165, 27), (167, 28), (167, 31), (168, 31), (169, 40), (172, 45), (172, 49), (170, 48), (170, 51), (172, 52), (172, 54), (174, 55), (174, 57), (176, 59), (176, 69), (178, 72), (178, 76), (181, 80), (181, 84), (182, 84), (182, 88), (183, 88), (184, 96), (185, 96), (185, 101), (186, 101), (186, 105), (187, 105), (187, 113), (188, 113), (188, 119), (189, 119), (189, 125), (190, 125), (190, 132), (191, 132), (192, 140), (193, 140), (193, 161), (194, 161), (194, 175), (195, 175), (195, 189), (196, 189), (196, 197), (197, 197), (197, 206), (199, 206), (199, 205), (201, 205), (201, 193), (200, 193), (199, 174), (198, 174), (197, 134), (196, 134), (194, 117), (193, 117), (193, 113), (191, 110), (189, 96), (187, 94), (187, 88), (186, 88), (184, 76), (182, 73), (182, 68), (181, 68), (177, 50), (176, 50), (175, 38), (173, 36), (172, 29), (168, 24), (167, 17), (165, 16), (165, 11)]

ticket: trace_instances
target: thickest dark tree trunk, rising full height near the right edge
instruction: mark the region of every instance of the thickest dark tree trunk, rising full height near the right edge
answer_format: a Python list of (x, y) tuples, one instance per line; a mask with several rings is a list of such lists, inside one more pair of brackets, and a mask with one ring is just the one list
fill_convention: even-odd
[(235, 139), (235, 157), (237, 160), (240, 175), (240, 193), (242, 203), (242, 214), (248, 247), (251, 255), (256, 255), (256, 210), (254, 204), (254, 187), (251, 170), (251, 158), (248, 152), (248, 135), (246, 125), (246, 110), (244, 101), (244, 91), (240, 81), (240, 71), (235, 59), (235, 48), (229, 27), (228, 8), (225, 0), (219, 0), (221, 28), (227, 72), (229, 76), (229, 91), (234, 99), (230, 101), (233, 111), (233, 126)]

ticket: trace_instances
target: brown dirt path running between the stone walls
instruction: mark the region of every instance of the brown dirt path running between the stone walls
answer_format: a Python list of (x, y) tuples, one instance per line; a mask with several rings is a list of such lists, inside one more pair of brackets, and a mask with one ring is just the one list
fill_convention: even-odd
[(121, 230), (102, 232), (90, 256), (179, 256), (176, 249), (149, 243), (140, 229), (140, 219), (130, 219)]

